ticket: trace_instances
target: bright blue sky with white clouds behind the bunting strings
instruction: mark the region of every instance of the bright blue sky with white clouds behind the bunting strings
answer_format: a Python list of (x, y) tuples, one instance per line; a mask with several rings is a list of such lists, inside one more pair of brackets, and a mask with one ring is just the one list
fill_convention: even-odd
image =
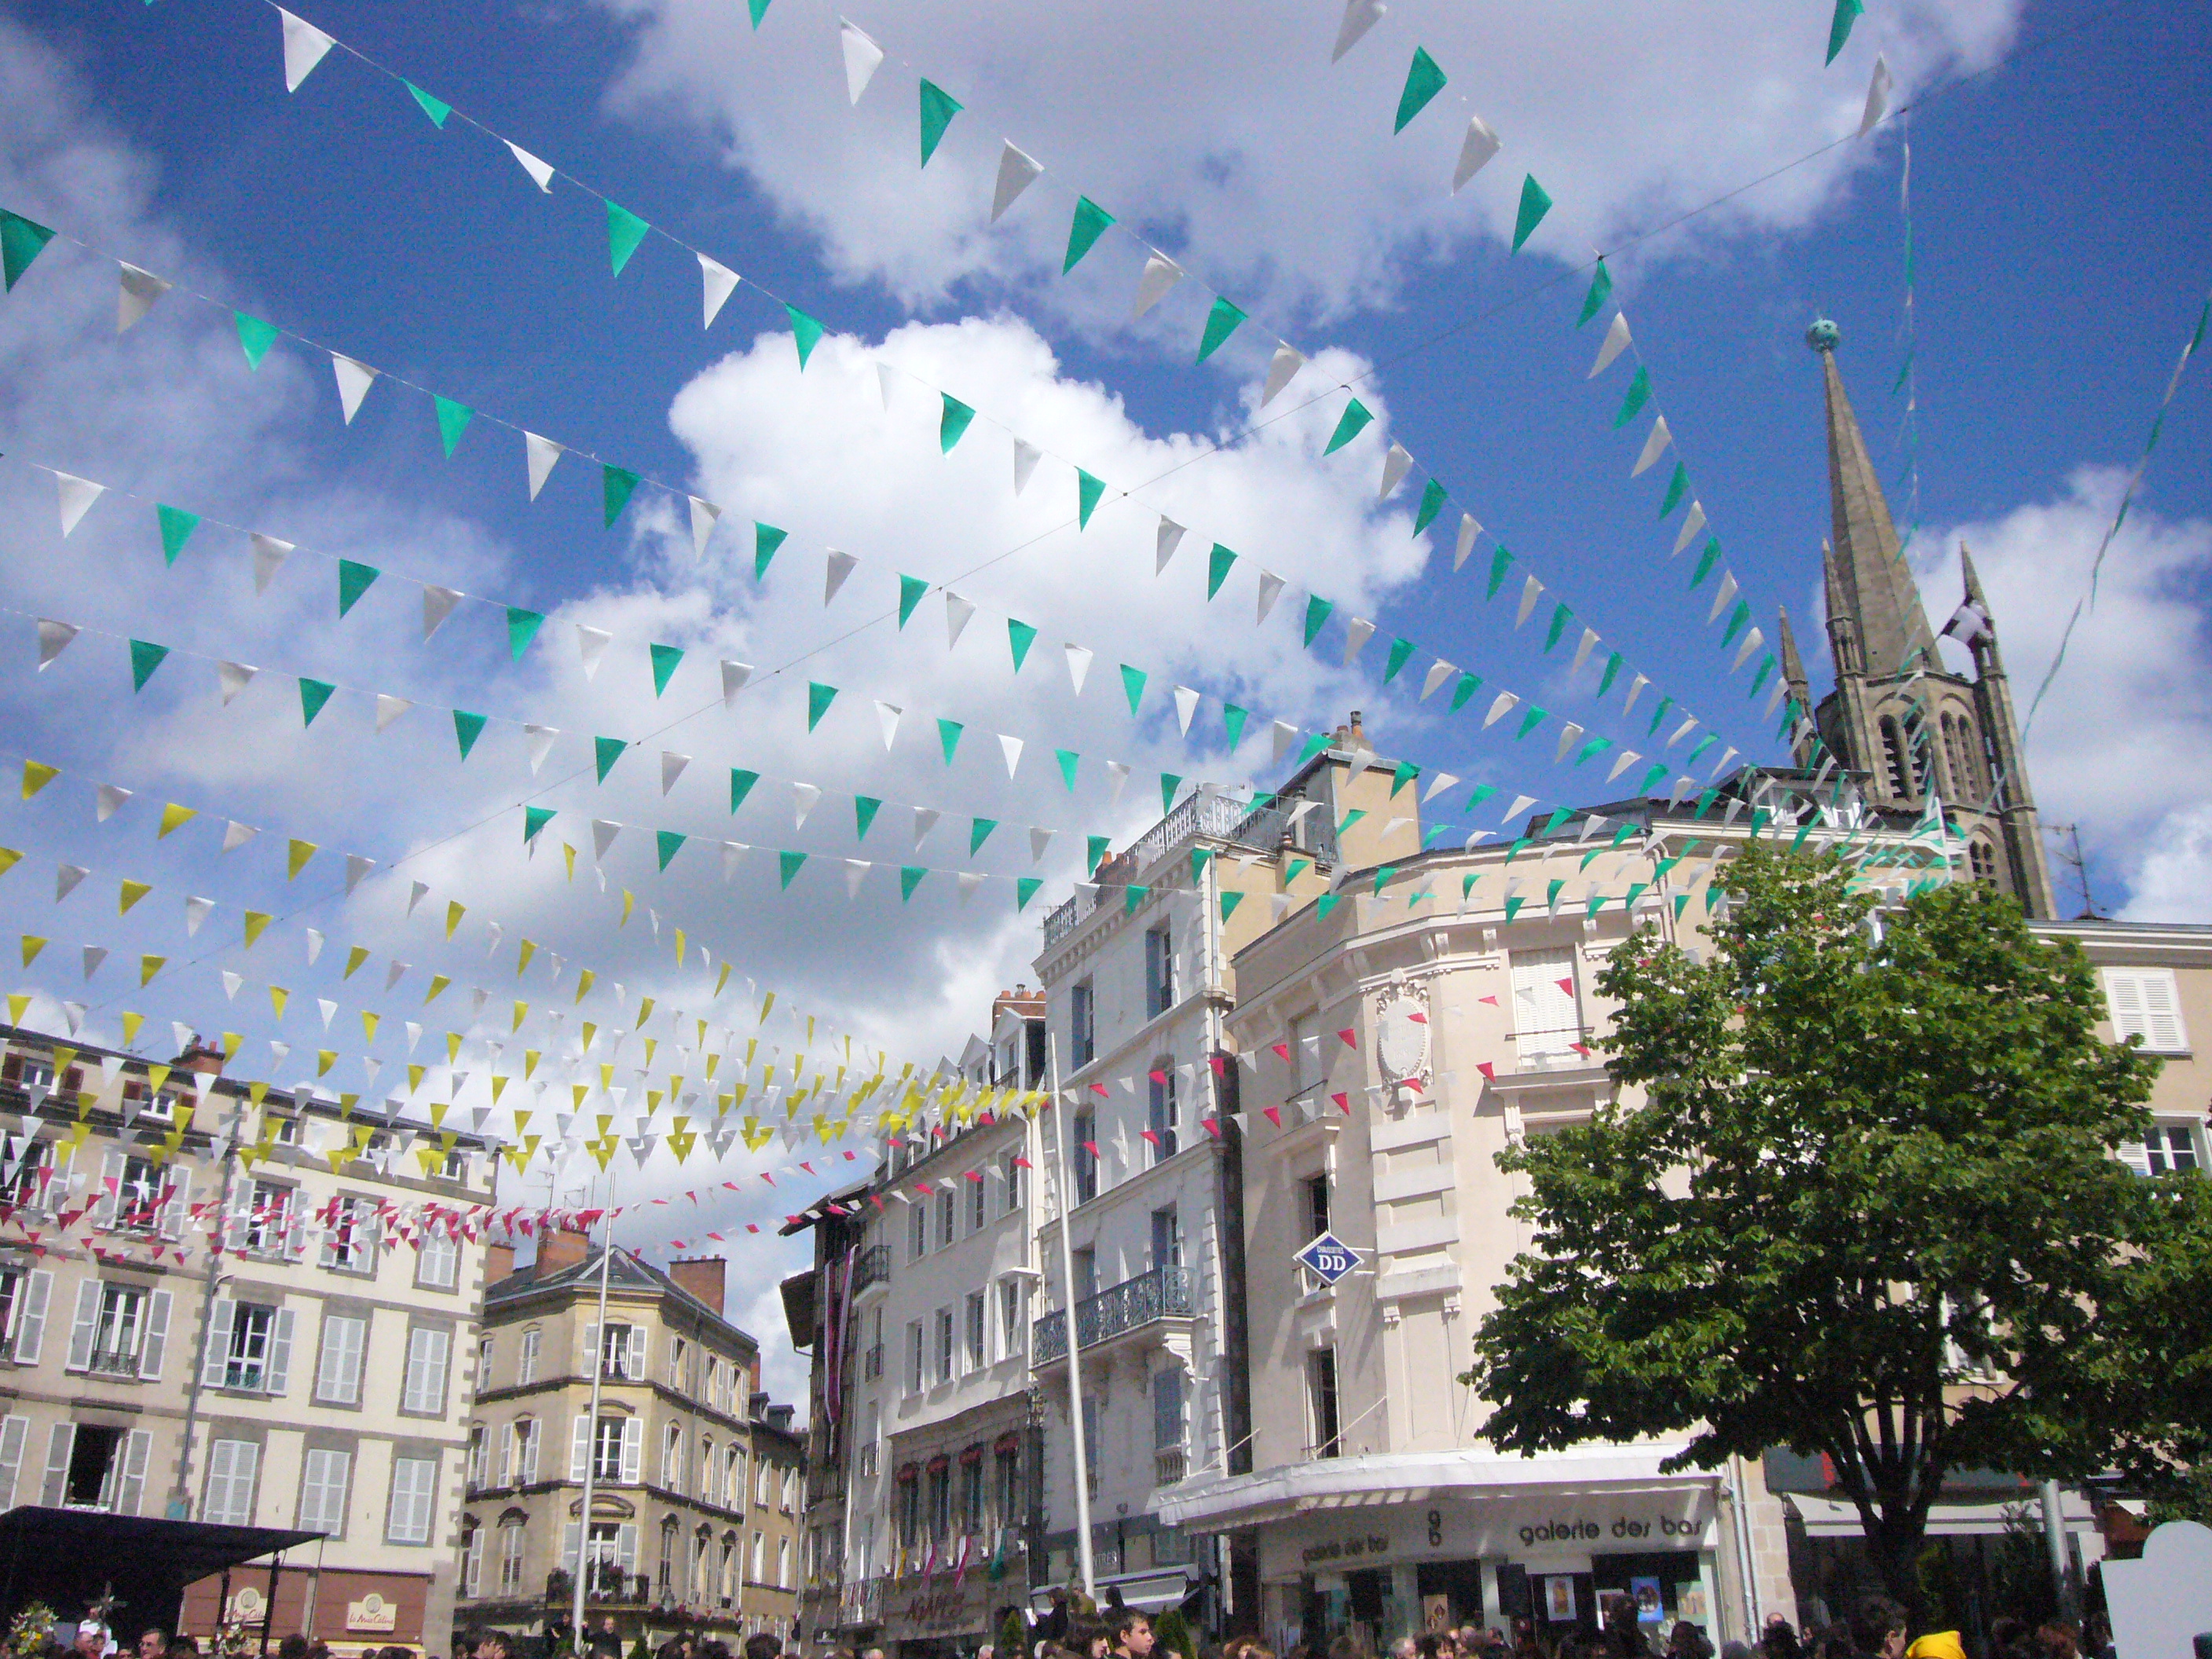
[[(35, 757), (64, 774), (11, 810), (0, 836), (33, 854), (0, 902), (18, 931), (55, 940), (15, 989), (86, 1000), (91, 1033), (113, 1029), (122, 1009), (153, 1013), (157, 1029), (170, 1015), (248, 1024), (212, 978), (226, 964), (347, 1009), (374, 1002), (374, 987), (358, 991), (369, 975), (336, 984), (332, 958), (307, 967), (305, 927), (407, 960), (416, 980), (473, 942), (453, 978), (482, 980), (480, 936), (425, 933), (449, 896), (467, 900), (471, 929), (504, 918), (507, 951), (529, 933), (606, 962), (633, 989), (659, 984), (670, 980), (666, 940), (613, 927), (613, 894), (630, 887), (670, 920), (690, 918), (695, 938), (726, 940), (717, 958), (785, 987), (787, 1000), (933, 1060), (982, 1022), (993, 987), (1029, 971), (1035, 920), (1079, 874), (1082, 836), (1144, 827), (1159, 770), (1265, 783), (1261, 726), (1234, 757), (1221, 752), (1221, 697), (1301, 728), (1365, 708), (1387, 752), (1546, 801), (1608, 794), (1610, 757), (1553, 763), (1559, 719), (1655, 750), (1644, 717), (1661, 692), (1708, 717), (1723, 743), (1776, 759), (1763, 745), (1763, 699), (1743, 695), (1750, 670), (1730, 677), (1732, 650), (1705, 624), (1712, 582), (1692, 595), (1692, 555), (1668, 557), (1679, 520), (1661, 524), (1657, 502), (1672, 456), (1628, 478), (1650, 414), (1624, 431), (1610, 422), (1635, 361), (1595, 385), (1584, 378), (1606, 319), (1575, 327), (1586, 279), (1568, 268), (1593, 243), (1610, 250), (1615, 299), (1728, 568), (1770, 637), (1774, 606), (1787, 604), (1818, 655), (1827, 498), (1803, 327), (1823, 312), (1843, 325), (1847, 380), (1898, 476), (1902, 400), (1889, 387), (1902, 352), (1905, 126), (1730, 192), (1847, 137), (1876, 51), (1898, 73), (1898, 97), (1920, 100), (1909, 119), (1924, 531), (1913, 557), (1940, 622), (1955, 542), (1973, 542), (2026, 701), (2212, 281), (2201, 188), (2212, 53), (2201, 9), (2185, 4), (1869, 4), (1832, 69), (1820, 66), (1825, 0), (1694, 15), (1531, 2), (1482, 18), (1409, 0), (1336, 66), (1334, 4), (847, 9), (889, 53), (858, 108), (838, 66), (838, 13), (812, 0), (774, 0), (759, 31), (728, 0), (319, 0), (303, 15), (803, 305), (830, 338), (801, 376), (781, 312), (757, 288), (701, 332), (688, 252), (655, 237), (611, 276), (595, 199), (566, 181), (540, 195), (462, 115), (431, 126), (394, 80), (343, 51), (285, 93), (276, 13), (261, 0), (0, 9), (0, 75), (22, 111), (0, 135), (0, 206), (728, 509), (695, 564), (688, 533), (650, 491), (602, 529), (597, 476), (577, 460), (531, 502), (513, 434), (478, 420), (445, 460), (425, 400), (392, 385), (341, 425), (327, 358), (279, 341), (250, 372), (223, 312), (181, 290), (117, 338), (113, 263), (49, 248), (0, 307), (0, 451), (11, 458), (0, 500), (13, 526), (0, 602), (495, 717), (462, 765), (442, 712), (418, 708), (376, 734), (367, 703), (341, 695), (303, 734), (274, 672), (223, 708), (206, 664), (184, 655), (133, 697), (113, 639), (80, 637), (44, 675), (29, 644), (0, 653), (9, 763)], [(1413, 44), (1451, 80), (1394, 137)], [(916, 75), (967, 104), (927, 173), (916, 173)], [(1471, 115), (1504, 148), (1453, 197)], [(1009, 137), (1046, 173), (991, 226)], [(1526, 173), (1546, 181), (1555, 208), (1509, 257)], [(1117, 230), (1073, 276), (1057, 274), (1077, 192), (1190, 272), (1144, 323), (1128, 321), (1139, 241)], [(1719, 197), (1674, 230), (1641, 234)], [(1252, 321), (1194, 365), (1210, 292)], [(1316, 361), (1256, 438), (1206, 453), (1208, 440), (1245, 427), (1276, 336)], [(898, 369), (889, 409), (876, 361)], [(1380, 420), (1321, 458), (1345, 400), (1334, 387), (1352, 380)], [(931, 387), (980, 411), (945, 458)], [(2201, 372), (2181, 389), (2101, 604), (2028, 752), (2046, 818), (2084, 825), (2099, 900), (2159, 920), (2212, 920), (2208, 396)], [(1009, 429), (1048, 451), (1022, 498)], [(1418, 467), (1376, 507), (1391, 438)], [(164, 571), (150, 513), (119, 500), (97, 504), (64, 542), (53, 480), (22, 458), (551, 619), (520, 664), (482, 606), (425, 646), (418, 591), (398, 580), (341, 624), (327, 562), (301, 553), (257, 595), (243, 542), (208, 529)], [(1060, 458), (1113, 487), (1079, 535), (1062, 526), (1073, 473)], [(1416, 542), (1409, 513), (1429, 476), (1453, 504)], [(1130, 500), (1117, 500), (1121, 489)], [(1164, 511), (1190, 538), (1155, 577)], [(1522, 560), (1495, 602), (1482, 597), (1491, 535), (1451, 573), (1460, 511)], [(792, 533), (765, 588), (739, 533), (748, 518)], [(1212, 606), (1210, 540), (1243, 555)], [(825, 546), (860, 560), (827, 611)], [(1263, 628), (1252, 622), (1254, 566), (1290, 582)], [(1515, 630), (1522, 568), (1555, 597)], [(951, 580), (980, 606), (958, 650), (945, 650), (936, 588), (905, 633), (880, 619), (896, 573)], [(1294, 633), (1307, 588), (1340, 599), (1314, 653)], [(1593, 699), (1606, 650), (1579, 677), (1564, 672), (1566, 648), (1542, 655), (1557, 599), (1577, 617), (1566, 646), (1579, 626), (1597, 628), (1606, 650), (1657, 681), (1632, 721), (1619, 717), (1619, 688)], [(1022, 675), (1009, 672), (1006, 615), (1040, 630)], [(1378, 626), (1352, 668), (1338, 650), (1345, 615)], [(577, 624), (615, 635), (595, 677), (582, 672)], [(29, 639), (22, 617), (4, 626)], [(1420, 655), (1383, 688), (1394, 635), (1416, 639)], [(646, 639), (690, 653), (666, 699), (653, 695)], [(1097, 650), (1084, 697), (1060, 661), (1068, 639)], [(1411, 695), (1436, 655), (1491, 681), (1458, 717), (1440, 712), (1440, 697), (1422, 706)], [(723, 710), (719, 657), (794, 666)], [(1137, 723), (1115, 703), (1115, 661), (1152, 672)], [(805, 679), (841, 686), (814, 734), (801, 714)], [(1825, 684), (1825, 664), (1814, 679)], [(1175, 730), (1170, 684), (1210, 699), (1192, 726), (1203, 741)], [(1555, 719), (1517, 745), (1517, 714), (1484, 732), (1498, 686)], [(889, 754), (874, 699), (909, 710)], [(927, 734), (933, 712), (969, 723), (956, 768)], [(542, 774), (518, 728), (498, 721), (560, 728)], [(646, 737), (670, 721), (608, 787), (588, 772), (571, 779), (588, 765), (586, 734)], [(993, 732), (1029, 745), (1011, 781)], [(1062, 745), (1091, 757), (1073, 794), (1048, 761)], [(655, 787), (659, 748), (692, 757), (670, 792)], [(1135, 768), (1124, 794), (1110, 794), (1099, 757)], [(765, 779), (737, 818), (719, 783), (732, 765)], [(805, 825), (792, 823), (787, 779), (825, 792)], [(135, 805), (95, 823), (88, 790), (100, 781), (137, 790)], [(863, 845), (856, 792), (936, 807), (947, 827), (920, 854), (905, 818)], [(847, 900), (821, 863), (781, 891), (772, 852), (748, 854), (728, 885), (708, 849), (661, 876), (650, 838), (633, 830), (599, 896), (582, 869), (568, 883), (553, 858), (520, 858), (526, 796), (557, 810), (582, 869), (586, 821), (602, 816), (816, 860), (1040, 876), (1044, 894), (1015, 916), (1006, 880), (962, 905), (949, 876), (936, 876), (900, 905), (878, 867)], [(157, 838), (148, 803), (166, 799), (263, 834), (228, 856), (206, 825)], [(964, 814), (1006, 825), (982, 856), (964, 856), (964, 832), (951, 827)], [(1493, 816), (1469, 823), (1495, 827)], [(1057, 832), (1042, 860), (1029, 858), (1024, 825)], [(270, 854), (288, 836), (330, 849), (296, 883)], [(407, 865), (347, 896), (338, 849)], [(150, 880), (159, 902), (115, 916), (106, 898), (77, 898), (62, 914), (46, 887), (58, 860), (100, 880)], [(438, 896), (418, 916), (405, 914), (411, 880)], [(272, 936), (261, 949), (292, 951), (288, 967), (237, 945), (217, 951), (217, 922), (184, 936), (186, 891), (230, 905), (226, 938), (239, 907), (285, 916), (279, 933), (294, 942)], [(113, 947), (115, 960), (73, 991), (82, 942)], [(137, 951), (179, 964), (159, 993), (131, 984), (122, 962)], [(493, 984), (491, 995), (509, 991)], [(703, 991), (670, 980), (668, 995), (701, 1002)], [(252, 1026), (257, 1042), (272, 1035), (263, 1026)], [(321, 1042), (307, 1031), (279, 1040)]]

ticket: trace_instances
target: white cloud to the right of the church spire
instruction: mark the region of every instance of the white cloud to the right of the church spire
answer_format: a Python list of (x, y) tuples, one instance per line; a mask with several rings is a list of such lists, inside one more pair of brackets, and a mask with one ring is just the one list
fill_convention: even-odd
[[(2046, 500), (1916, 538), (1931, 619), (1958, 604), (1958, 546), (1973, 553), (1997, 619), (2020, 719), (2028, 719), (2090, 560), (2119, 509), (2126, 473), (2079, 467)], [(2046, 825), (2079, 823), (2084, 849), (2128, 887), (2141, 920), (2212, 920), (2212, 522), (2157, 511), (2157, 480), (2112, 538), (2097, 606), (2028, 730), (2028, 776)], [(1947, 641), (1947, 653), (1962, 659)], [(2070, 876), (2053, 865), (2059, 905)], [(2099, 907), (2115, 909), (2099, 891)]]

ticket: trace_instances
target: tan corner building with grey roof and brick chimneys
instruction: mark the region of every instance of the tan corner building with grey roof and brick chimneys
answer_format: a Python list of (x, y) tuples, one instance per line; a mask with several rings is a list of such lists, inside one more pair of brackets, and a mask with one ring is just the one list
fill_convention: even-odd
[(726, 1263), (661, 1272), (617, 1248), (604, 1325), (599, 1267), (577, 1232), (546, 1234), (522, 1267), (513, 1250), (493, 1250), (460, 1621), (566, 1626), (584, 1548), (588, 1619), (613, 1619), (624, 1648), (686, 1628), (790, 1637), (805, 1447), (792, 1407), (759, 1389), (759, 1345), (723, 1318)]

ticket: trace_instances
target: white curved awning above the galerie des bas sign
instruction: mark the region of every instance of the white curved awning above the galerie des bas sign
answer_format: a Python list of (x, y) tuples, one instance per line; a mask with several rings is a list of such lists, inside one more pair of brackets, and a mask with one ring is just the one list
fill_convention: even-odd
[(1389, 1451), (1371, 1458), (1316, 1458), (1250, 1475), (1199, 1475), (1159, 1498), (1161, 1526), (1214, 1533), (1228, 1526), (1305, 1515), (1316, 1509), (1422, 1504), (1440, 1498), (1528, 1498), (1670, 1493), (1712, 1486), (1719, 1475), (1659, 1473), (1681, 1447), (1588, 1447), (1542, 1458), (1453, 1451)]

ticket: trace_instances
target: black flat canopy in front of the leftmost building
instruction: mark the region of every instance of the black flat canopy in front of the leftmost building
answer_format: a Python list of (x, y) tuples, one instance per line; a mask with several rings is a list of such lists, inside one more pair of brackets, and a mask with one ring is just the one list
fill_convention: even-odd
[(215, 1526), (150, 1515), (24, 1504), (0, 1515), (0, 1617), (44, 1601), (62, 1619), (80, 1617), (111, 1588), (122, 1599), (117, 1639), (148, 1626), (177, 1628), (184, 1586), (321, 1533), (276, 1526)]

